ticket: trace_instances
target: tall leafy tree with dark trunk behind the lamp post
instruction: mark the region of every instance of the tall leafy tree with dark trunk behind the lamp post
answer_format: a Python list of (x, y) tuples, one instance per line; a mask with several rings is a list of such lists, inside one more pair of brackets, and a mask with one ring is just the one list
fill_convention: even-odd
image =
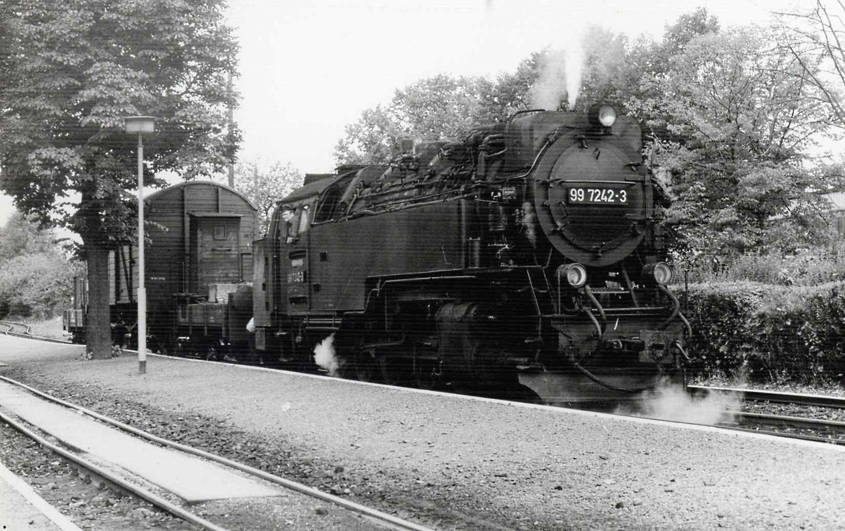
[(223, 0), (0, 3), (0, 187), (25, 214), (81, 237), (95, 358), (110, 356), (108, 249), (137, 238), (127, 192), (136, 187), (137, 140), (123, 133), (123, 117), (158, 118), (144, 143), (147, 185), (161, 185), (155, 171), (191, 178), (234, 157), (240, 135), (226, 127), (236, 103), (226, 82), (237, 44), (223, 8)]

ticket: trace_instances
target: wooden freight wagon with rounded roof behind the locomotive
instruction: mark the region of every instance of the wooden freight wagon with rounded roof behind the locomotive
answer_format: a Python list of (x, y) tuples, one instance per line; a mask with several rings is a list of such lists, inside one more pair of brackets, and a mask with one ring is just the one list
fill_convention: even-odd
[[(210, 181), (183, 182), (150, 194), (144, 203), (147, 344), (172, 351), (181, 328), (199, 324), (199, 310), (188, 305), (225, 304), (239, 284), (252, 281), (257, 209), (237, 190)], [(137, 246), (109, 253), (112, 326), (125, 327), (132, 343), (137, 258)], [(202, 324), (216, 325), (221, 312), (204, 308)]]

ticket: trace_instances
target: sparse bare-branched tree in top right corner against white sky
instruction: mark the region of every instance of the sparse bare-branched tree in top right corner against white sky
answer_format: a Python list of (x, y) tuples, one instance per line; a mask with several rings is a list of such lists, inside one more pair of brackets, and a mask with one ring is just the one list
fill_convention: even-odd
[(816, 0), (805, 12), (779, 13), (780, 46), (799, 63), (804, 82), (820, 91), (828, 123), (845, 130), (845, 4)]

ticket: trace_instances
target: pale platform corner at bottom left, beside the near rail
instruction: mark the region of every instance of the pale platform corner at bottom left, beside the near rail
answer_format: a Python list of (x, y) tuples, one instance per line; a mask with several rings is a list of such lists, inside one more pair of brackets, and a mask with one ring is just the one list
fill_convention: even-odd
[(0, 528), (9, 531), (81, 531), (3, 464), (0, 464)]

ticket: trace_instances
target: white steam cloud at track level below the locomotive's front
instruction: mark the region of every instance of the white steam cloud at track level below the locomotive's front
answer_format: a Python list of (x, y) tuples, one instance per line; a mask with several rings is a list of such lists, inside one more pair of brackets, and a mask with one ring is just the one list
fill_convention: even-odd
[(738, 393), (708, 393), (704, 397), (691, 397), (683, 387), (664, 382), (652, 391), (641, 393), (635, 408), (623, 406), (614, 413), (714, 425), (720, 421), (732, 421), (733, 415), (728, 411), (739, 411), (741, 406), (742, 395)]

